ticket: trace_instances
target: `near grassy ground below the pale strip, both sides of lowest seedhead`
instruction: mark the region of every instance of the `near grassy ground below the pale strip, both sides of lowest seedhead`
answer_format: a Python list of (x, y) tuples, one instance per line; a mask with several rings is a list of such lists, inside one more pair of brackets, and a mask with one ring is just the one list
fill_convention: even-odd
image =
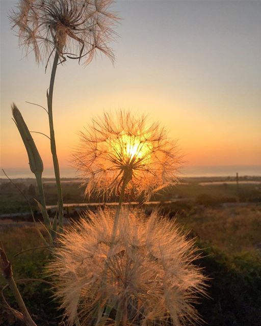
[[(210, 298), (203, 298), (197, 309), (212, 326), (261, 325), (261, 206), (200, 208), (175, 216), (177, 223), (196, 237), (203, 258), (196, 263), (203, 268)], [(8, 224), (10, 221), (7, 221)], [(42, 245), (34, 227), (4, 227), (0, 237), (13, 264), (15, 279), (43, 278), (45, 250), (34, 250), (14, 257), (22, 250)], [(4, 285), (1, 279), (1, 285)], [(56, 306), (48, 285), (40, 282), (20, 284), (19, 288), (38, 326), (57, 325)], [(6, 291), (14, 306), (12, 295)], [(19, 325), (6, 309), (0, 325)], [(59, 314), (58, 314), (59, 315)]]

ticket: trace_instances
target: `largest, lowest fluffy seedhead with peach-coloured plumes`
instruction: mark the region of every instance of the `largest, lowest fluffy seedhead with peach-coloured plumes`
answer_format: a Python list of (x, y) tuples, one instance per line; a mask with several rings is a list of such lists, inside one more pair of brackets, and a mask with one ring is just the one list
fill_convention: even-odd
[(48, 265), (72, 324), (188, 325), (204, 293), (198, 257), (175, 222), (122, 210), (111, 247), (114, 211), (89, 213), (66, 231)]

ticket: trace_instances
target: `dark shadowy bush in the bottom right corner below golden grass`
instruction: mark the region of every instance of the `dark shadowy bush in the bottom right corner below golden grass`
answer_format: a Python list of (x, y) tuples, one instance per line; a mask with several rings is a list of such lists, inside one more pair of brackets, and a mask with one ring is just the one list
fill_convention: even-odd
[[(199, 243), (203, 247), (203, 243)], [(242, 253), (228, 256), (218, 249), (203, 250), (198, 265), (211, 279), (208, 294), (198, 305), (202, 319), (211, 326), (261, 325), (261, 259)]]

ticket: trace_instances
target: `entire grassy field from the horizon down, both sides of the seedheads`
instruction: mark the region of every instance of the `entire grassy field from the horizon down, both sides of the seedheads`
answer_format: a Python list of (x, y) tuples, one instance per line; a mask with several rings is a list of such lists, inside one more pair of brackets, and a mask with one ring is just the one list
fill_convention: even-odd
[[(162, 212), (169, 211), (169, 218), (176, 219), (180, 227), (189, 232), (188, 237), (196, 238), (202, 252), (196, 264), (210, 277), (210, 298), (202, 298), (197, 305), (202, 319), (211, 326), (261, 326), (261, 204), (256, 200), (260, 196), (259, 185), (240, 184), (238, 191), (235, 184), (202, 186), (199, 180), (187, 183), (168, 189), (158, 199), (189, 199), (185, 204), (175, 203), (169, 210), (165, 207)], [(29, 189), (31, 184), (29, 180), (20, 187), (23, 186), (23, 191), (32, 199), (37, 194), (32, 186)], [(19, 198), (11, 186), (5, 187), (5, 194), (1, 194), (4, 209), (15, 211), (14, 203), (19, 203), (21, 210), (27, 209), (23, 198)], [(47, 183), (45, 187), (47, 203), (55, 203), (54, 184)], [(63, 188), (65, 198), (66, 194), (69, 196), (65, 202), (75, 202), (76, 198), (81, 202), (82, 189), (77, 184), (64, 184)], [(13, 195), (8, 197), (8, 192)], [(0, 239), (12, 262), (16, 280), (43, 278), (44, 263), (50, 259), (48, 250), (37, 249), (15, 257), (20, 251), (42, 246), (32, 224), (2, 219)], [(4, 284), (0, 278), (0, 285)], [(38, 281), (22, 282), (19, 289), (38, 326), (59, 324), (58, 303), (53, 301), (48, 285)], [(5, 296), (16, 307), (8, 289)], [(0, 306), (0, 325), (20, 326), (3, 306)]]

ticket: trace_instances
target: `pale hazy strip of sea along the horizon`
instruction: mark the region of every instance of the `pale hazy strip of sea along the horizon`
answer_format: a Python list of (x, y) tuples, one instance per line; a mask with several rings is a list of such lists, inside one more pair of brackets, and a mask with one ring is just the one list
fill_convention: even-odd
[[(8, 169), (4, 168), (7, 175), (12, 179), (34, 178), (30, 169)], [(261, 166), (189, 166), (180, 171), (180, 177), (233, 177), (236, 173), (239, 176), (261, 176)], [(6, 178), (3, 171), (0, 177)], [(43, 173), (44, 178), (54, 178), (53, 169), (46, 168)], [(72, 168), (61, 169), (62, 178), (76, 178), (77, 174)]]

